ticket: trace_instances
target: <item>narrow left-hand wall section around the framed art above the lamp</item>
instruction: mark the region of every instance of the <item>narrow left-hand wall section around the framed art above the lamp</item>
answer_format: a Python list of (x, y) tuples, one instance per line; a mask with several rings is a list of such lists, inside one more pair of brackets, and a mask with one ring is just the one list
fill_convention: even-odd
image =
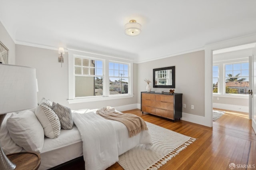
[(9, 49), (9, 63), (15, 64), (15, 43), (0, 22), (0, 42), (2, 42)]

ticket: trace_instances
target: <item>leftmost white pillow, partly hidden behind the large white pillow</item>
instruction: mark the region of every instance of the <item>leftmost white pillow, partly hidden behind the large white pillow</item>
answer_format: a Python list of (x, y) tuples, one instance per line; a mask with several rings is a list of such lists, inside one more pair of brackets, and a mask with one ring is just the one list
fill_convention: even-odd
[[(14, 112), (15, 113), (15, 112)], [(2, 125), (0, 127), (0, 143), (5, 154), (11, 154), (15, 152), (20, 152), (23, 148), (17, 145), (11, 138), (8, 128), (6, 126), (7, 119), (12, 115), (12, 113), (7, 113), (4, 117)]]

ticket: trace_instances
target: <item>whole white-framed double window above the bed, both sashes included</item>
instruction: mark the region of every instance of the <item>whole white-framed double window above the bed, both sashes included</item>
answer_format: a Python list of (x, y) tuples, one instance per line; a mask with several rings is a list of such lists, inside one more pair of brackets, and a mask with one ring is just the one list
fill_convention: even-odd
[(68, 103), (133, 97), (132, 60), (69, 50)]

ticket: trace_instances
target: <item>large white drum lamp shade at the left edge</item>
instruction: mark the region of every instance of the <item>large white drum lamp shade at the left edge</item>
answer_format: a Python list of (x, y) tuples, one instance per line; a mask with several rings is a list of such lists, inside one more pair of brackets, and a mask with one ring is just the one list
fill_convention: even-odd
[(37, 106), (36, 69), (0, 64), (0, 114)]

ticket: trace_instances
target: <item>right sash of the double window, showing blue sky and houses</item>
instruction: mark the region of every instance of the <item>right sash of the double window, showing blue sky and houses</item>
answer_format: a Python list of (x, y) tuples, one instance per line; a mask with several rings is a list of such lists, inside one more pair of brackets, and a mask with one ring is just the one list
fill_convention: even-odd
[(120, 95), (128, 93), (129, 66), (124, 63), (109, 62), (109, 94)]

